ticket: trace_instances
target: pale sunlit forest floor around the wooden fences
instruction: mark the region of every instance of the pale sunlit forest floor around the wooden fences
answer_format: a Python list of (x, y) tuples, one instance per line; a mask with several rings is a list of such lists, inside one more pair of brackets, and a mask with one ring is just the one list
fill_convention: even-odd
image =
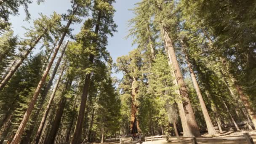
[[(218, 133), (215, 136), (212, 135), (208, 135), (207, 133), (201, 135), (203, 137), (228, 137), (228, 136), (243, 136), (243, 133), (248, 132), (250, 135), (256, 135), (256, 131), (224, 131), (223, 133)], [(256, 142), (256, 141), (254, 141)], [(97, 143), (94, 143), (97, 144)], [(103, 144), (119, 144), (119, 141), (115, 141), (115, 142), (106, 142)], [(143, 144), (169, 144), (167, 143), (167, 141), (165, 139), (163, 140), (158, 140), (158, 141), (143, 141)]]

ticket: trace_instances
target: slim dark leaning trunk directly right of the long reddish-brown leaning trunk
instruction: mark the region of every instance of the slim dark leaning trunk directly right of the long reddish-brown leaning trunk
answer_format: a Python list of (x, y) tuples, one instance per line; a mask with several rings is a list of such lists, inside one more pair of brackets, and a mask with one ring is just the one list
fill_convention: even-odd
[[(45, 99), (46, 99), (46, 96), (47, 96), (47, 94), (48, 94), (48, 91), (49, 91), (50, 88), (51, 88), (51, 85), (53, 84), (53, 79), (54, 79), (54, 77), (55, 77), (55, 75), (56, 75), (56, 72), (57, 72), (57, 70), (58, 70), (58, 68), (59, 68), (59, 65), (60, 65), (60, 63), (61, 63), (61, 59), (62, 59), (62, 57), (63, 57), (63, 55), (64, 55), (64, 53), (65, 53), (65, 50), (66, 50), (67, 45), (68, 45), (68, 42), (69, 42), (69, 41), (67, 40), (67, 42), (66, 42), (66, 44), (65, 44), (65, 46), (64, 46), (64, 48), (63, 48), (63, 50), (62, 50), (62, 52), (61, 52), (61, 55), (60, 55), (60, 57), (59, 57), (59, 59), (58, 59), (56, 65), (55, 65), (55, 67), (54, 67), (54, 69), (53, 69), (53, 73), (51, 74), (51, 78), (50, 78), (50, 80), (48, 81), (48, 84), (47, 84), (45, 90), (43, 91), (43, 94), (41, 95), (41, 99), (40, 99), (40, 101), (39, 101), (39, 104), (37, 105), (37, 111), (35, 112), (35, 114), (34, 114), (33, 117), (32, 117), (32, 121), (33, 121), (33, 122), (36, 122), (37, 119), (38, 119), (38, 116), (40, 115), (40, 112), (41, 112), (41, 109), (42, 109), (42, 107), (43, 107), (44, 101), (45, 101)], [(29, 128), (27, 129), (27, 131), (26, 131), (27, 135), (22, 139), (21, 144), (28, 144), (28, 143), (29, 143), (34, 128), (35, 128), (35, 125), (30, 125), (30, 127), (29, 127)]]

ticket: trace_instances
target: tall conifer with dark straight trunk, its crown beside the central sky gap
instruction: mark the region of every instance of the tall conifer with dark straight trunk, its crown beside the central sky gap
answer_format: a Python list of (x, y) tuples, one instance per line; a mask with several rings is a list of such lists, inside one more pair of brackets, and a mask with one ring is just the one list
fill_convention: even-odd
[[(116, 24), (113, 21), (113, 16), (115, 9), (112, 6), (115, 0), (94, 0), (93, 1), (93, 8), (92, 8), (92, 24), (91, 27), (95, 27), (94, 29), (94, 37), (92, 38), (91, 48), (89, 51), (89, 62), (90, 65), (93, 64), (93, 60), (95, 56), (102, 53), (103, 57), (105, 52), (105, 46), (107, 45), (107, 35), (113, 35), (112, 32), (116, 30)], [(84, 34), (80, 33), (79, 37), (81, 39), (84, 38)], [(99, 50), (99, 51), (98, 51)], [(81, 96), (81, 103), (80, 109), (78, 112), (77, 122), (75, 125), (75, 130), (73, 134), (73, 138), (71, 144), (78, 144), (81, 139), (82, 134), (82, 127), (83, 127), (83, 118), (84, 118), (84, 111), (85, 111), (85, 104), (88, 95), (88, 87), (91, 78), (91, 70), (87, 72), (85, 75), (85, 83), (83, 87), (83, 94)]]

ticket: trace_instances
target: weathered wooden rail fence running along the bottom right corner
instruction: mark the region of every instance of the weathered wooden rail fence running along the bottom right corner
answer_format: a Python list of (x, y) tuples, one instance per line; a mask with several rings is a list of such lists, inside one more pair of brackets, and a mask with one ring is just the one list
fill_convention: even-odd
[(253, 139), (256, 135), (250, 136), (249, 133), (244, 133), (243, 136), (229, 137), (167, 137), (171, 144), (254, 144)]

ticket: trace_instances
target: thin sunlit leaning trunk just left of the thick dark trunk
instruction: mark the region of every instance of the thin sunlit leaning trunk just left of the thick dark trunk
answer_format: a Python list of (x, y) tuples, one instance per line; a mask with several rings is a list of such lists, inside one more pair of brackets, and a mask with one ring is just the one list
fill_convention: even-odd
[(44, 114), (43, 114), (41, 123), (40, 123), (39, 128), (38, 128), (38, 130), (37, 130), (37, 133), (36, 133), (36, 135), (35, 135), (35, 139), (34, 139), (34, 141), (33, 141), (34, 144), (38, 144), (38, 142), (39, 142), (40, 136), (41, 136), (42, 131), (43, 131), (43, 127), (44, 127), (44, 125), (45, 125), (46, 118), (47, 118), (48, 113), (49, 113), (50, 108), (51, 108), (51, 103), (52, 103), (52, 101), (53, 101), (53, 99), (54, 99), (54, 96), (55, 96), (55, 93), (56, 93), (56, 91), (57, 91), (57, 89), (58, 89), (58, 87), (59, 87), (59, 83), (60, 83), (60, 81), (61, 81), (61, 77), (62, 77), (62, 75), (63, 75), (64, 69), (65, 69), (65, 66), (63, 65), (63, 67), (62, 67), (62, 69), (61, 69), (61, 73), (60, 73), (60, 75), (59, 75), (59, 79), (58, 79), (57, 82), (56, 82), (56, 85), (55, 85), (55, 87), (54, 87), (54, 89), (53, 89), (53, 92), (52, 92), (51, 97), (50, 97), (50, 99), (49, 99), (49, 101), (48, 101), (47, 107), (46, 107), (45, 112), (44, 112)]

